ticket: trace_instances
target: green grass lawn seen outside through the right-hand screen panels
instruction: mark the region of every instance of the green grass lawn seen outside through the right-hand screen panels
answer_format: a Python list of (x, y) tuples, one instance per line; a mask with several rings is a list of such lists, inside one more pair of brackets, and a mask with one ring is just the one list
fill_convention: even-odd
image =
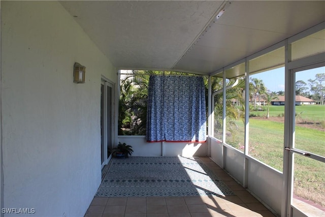
[[(266, 111), (251, 112), (255, 116), (266, 116)], [(307, 122), (314, 124), (325, 119), (325, 106), (296, 106), (296, 113)], [(262, 115), (265, 114), (265, 115)], [(270, 116), (281, 117), (284, 106), (270, 106)], [(270, 118), (272, 119), (272, 118)], [(267, 118), (249, 119), (249, 155), (271, 167), (283, 171), (284, 123)], [(296, 119), (298, 119), (296, 117)], [(236, 136), (228, 138), (227, 143), (243, 150), (243, 121), (237, 122)], [(311, 129), (306, 125), (295, 127), (295, 147), (325, 156), (325, 132)], [(295, 154), (294, 193), (325, 207), (325, 164), (299, 154)]]

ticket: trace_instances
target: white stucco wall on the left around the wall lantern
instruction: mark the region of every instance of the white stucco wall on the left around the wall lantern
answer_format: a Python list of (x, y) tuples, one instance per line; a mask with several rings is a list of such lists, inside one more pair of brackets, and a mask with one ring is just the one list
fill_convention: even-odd
[(101, 75), (117, 71), (58, 2), (1, 1), (1, 33), (4, 207), (83, 216), (101, 182)]

